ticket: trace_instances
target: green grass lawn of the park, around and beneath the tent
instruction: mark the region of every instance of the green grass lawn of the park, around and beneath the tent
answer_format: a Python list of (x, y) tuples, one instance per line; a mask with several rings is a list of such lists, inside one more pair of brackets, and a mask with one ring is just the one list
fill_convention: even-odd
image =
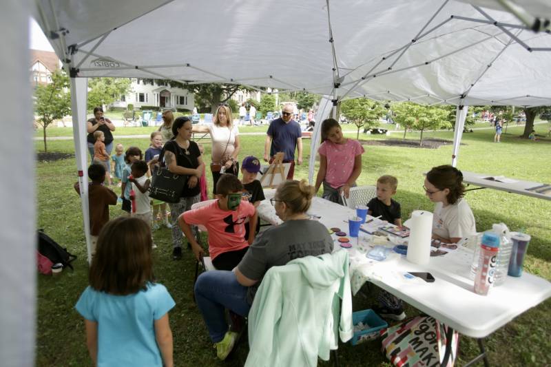
[[(349, 127), (350, 125), (348, 125)], [(262, 128), (258, 127), (259, 131)], [(140, 127), (129, 127), (136, 134)], [(144, 128), (145, 129), (145, 128)], [(251, 129), (257, 129), (253, 127)], [(347, 129), (347, 126), (344, 126)], [(547, 125), (537, 125), (539, 134), (547, 133)], [(121, 129), (123, 130), (123, 129)], [(58, 131), (52, 128), (52, 132)], [(61, 134), (61, 129), (59, 129)], [(140, 131), (140, 132), (138, 132)], [(151, 130), (149, 129), (148, 132)], [(50, 129), (48, 129), (50, 132)], [(533, 143), (518, 138), (521, 127), (510, 127), (502, 136), (502, 143), (493, 143), (492, 130), (479, 130), (464, 134), (459, 151), (459, 169), (506, 174), (537, 182), (551, 182), (549, 152), (551, 139)], [(70, 133), (72, 134), (72, 133)], [(70, 135), (69, 134), (69, 135)], [(121, 132), (122, 134), (122, 132)], [(125, 134), (130, 134), (125, 133)], [(50, 134), (49, 134), (50, 135)], [(51, 135), (50, 135), (51, 136)], [(355, 134), (349, 134), (354, 136)], [(364, 140), (383, 139), (384, 136), (366, 136)], [(397, 136), (392, 136), (396, 138)], [(408, 133), (415, 139), (417, 133)], [(453, 132), (429, 132), (424, 137), (453, 139)], [(137, 145), (147, 148), (147, 138), (117, 139), (125, 147)], [(263, 136), (242, 136), (240, 157), (249, 154), (262, 156)], [(71, 140), (48, 142), (50, 151), (74, 151)], [(439, 149), (418, 149), (403, 147), (365, 146), (362, 175), (358, 185), (374, 185), (382, 174), (393, 174), (399, 180), (395, 199), (402, 203), (402, 215), (408, 218), (415, 209), (432, 211), (433, 205), (422, 189), (423, 172), (435, 165), (451, 161), (452, 146)], [(43, 149), (41, 141), (35, 142), (35, 149)], [(210, 146), (205, 145), (207, 157)], [(308, 162), (309, 140), (304, 144), (304, 161)], [(207, 158), (208, 161), (208, 158)], [(307, 163), (306, 163), (307, 164)], [(307, 178), (308, 167), (302, 165), (295, 170), (295, 178)], [(208, 176), (207, 180), (211, 182)], [(75, 271), (64, 271), (61, 277), (38, 279), (37, 320), (37, 366), (91, 366), (85, 346), (83, 320), (74, 311), (74, 304), (87, 286), (87, 264), (85, 240), (79, 197), (72, 189), (76, 181), (76, 166), (73, 158), (55, 162), (37, 162), (37, 227), (56, 239), (63, 247), (79, 256), (74, 262)], [(492, 223), (505, 222), (510, 229), (525, 229), (532, 235), (532, 242), (526, 258), (526, 270), (551, 280), (551, 202), (527, 196), (504, 193), (490, 189), (470, 191), (466, 195), (477, 220), (477, 229), (489, 229)], [(111, 210), (112, 218), (121, 215), (119, 207)], [(191, 251), (185, 253), (182, 261), (171, 260), (171, 237), (168, 229), (154, 232), (158, 249), (154, 251), (155, 273), (158, 282), (167, 289), (176, 301), (170, 312), (174, 333), (174, 358), (176, 366), (242, 366), (247, 358), (247, 340), (238, 346), (233, 357), (225, 363), (216, 359), (205, 324), (191, 299), (195, 262)], [(354, 297), (355, 311), (369, 308), (373, 297)], [(415, 315), (415, 308), (406, 306), (408, 315)], [(545, 326), (548, 325), (548, 326)], [(490, 364), (499, 366), (543, 366), (551, 364), (551, 300), (530, 309), (517, 319), (499, 329), (486, 339)], [(461, 337), (459, 342), (458, 366), (477, 353), (475, 339)], [(380, 353), (380, 340), (350, 346), (341, 344), (338, 350), (341, 366), (388, 366)], [(320, 362), (320, 366), (329, 366)]]

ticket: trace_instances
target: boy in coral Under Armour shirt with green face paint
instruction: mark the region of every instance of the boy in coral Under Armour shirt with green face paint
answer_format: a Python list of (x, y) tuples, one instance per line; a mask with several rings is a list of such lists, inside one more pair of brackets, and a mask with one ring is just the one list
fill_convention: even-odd
[(222, 174), (216, 183), (216, 198), (211, 205), (185, 211), (178, 224), (191, 244), (197, 260), (204, 253), (197, 243), (190, 224), (202, 224), (209, 231), (209, 254), (212, 264), (218, 270), (232, 270), (239, 264), (249, 244), (253, 243), (254, 231), (249, 233), (249, 241), (244, 238), (245, 220), (249, 218), (252, 228), (256, 228), (256, 209), (241, 200), (243, 185), (232, 174)]

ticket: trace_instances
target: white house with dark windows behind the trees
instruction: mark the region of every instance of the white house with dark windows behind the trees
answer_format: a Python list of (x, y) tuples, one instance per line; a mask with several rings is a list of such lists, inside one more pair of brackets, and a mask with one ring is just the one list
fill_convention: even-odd
[(134, 108), (157, 106), (191, 111), (195, 105), (194, 94), (183, 88), (144, 84), (136, 78), (132, 78), (129, 92), (116, 99), (112, 104), (113, 107), (127, 107), (128, 104), (132, 104)]

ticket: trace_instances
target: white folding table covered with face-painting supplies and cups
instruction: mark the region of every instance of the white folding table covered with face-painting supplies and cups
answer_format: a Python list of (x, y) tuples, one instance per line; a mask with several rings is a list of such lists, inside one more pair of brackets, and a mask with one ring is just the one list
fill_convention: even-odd
[[(267, 200), (262, 202), (263, 213), (259, 209), (259, 216), (270, 222), (275, 209), (269, 204), (268, 197), (273, 197), (273, 192), (264, 195)], [(352, 209), (318, 197), (313, 198), (307, 213), (319, 216), (325, 227), (339, 227), (346, 233), (349, 227), (344, 220), (355, 215)], [(335, 251), (349, 251), (353, 292), (364, 282), (372, 282), (446, 324), (450, 333), (455, 330), (479, 339), (482, 355), (477, 359), (484, 357), (486, 361), (482, 338), (551, 296), (550, 282), (526, 272), (521, 277), (508, 276), (503, 285), (491, 289), (487, 296), (477, 295), (473, 291), (474, 281), (468, 277), (473, 256), (469, 249), (460, 247), (444, 256), (430, 258), (426, 266), (412, 264), (397, 253), (377, 262), (366, 258), (366, 252), (371, 250), (367, 238), (368, 235), (360, 233), (359, 240), (350, 238), (351, 249), (342, 249), (333, 234)], [(393, 244), (389, 242), (388, 246)], [(435, 277), (435, 282), (426, 283), (417, 278), (417, 281), (407, 280), (403, 274), (411, 271), (429, 272)], [(451, 337), (447, 339), (451, 342)], [(446, 346), (448, 350), (449, 347)]]

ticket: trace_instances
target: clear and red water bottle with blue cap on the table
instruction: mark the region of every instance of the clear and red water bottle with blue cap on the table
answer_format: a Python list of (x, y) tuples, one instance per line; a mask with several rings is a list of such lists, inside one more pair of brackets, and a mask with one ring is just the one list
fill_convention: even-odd
[(487, 295), (495, 280), (497, 254), (499, 253), (499, 235), (487, 231), (482, 236), (477, 275), (475, 275), (475, 293)]

